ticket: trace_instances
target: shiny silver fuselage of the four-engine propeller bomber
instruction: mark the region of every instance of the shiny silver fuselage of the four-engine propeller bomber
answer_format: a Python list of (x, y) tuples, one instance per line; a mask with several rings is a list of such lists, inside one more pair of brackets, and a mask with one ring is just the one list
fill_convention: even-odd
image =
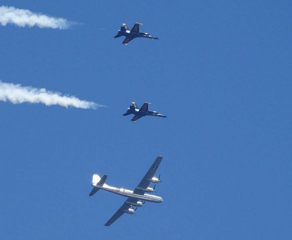
[(152, 194), (148, 194), (148, 193), (144, 193), (144, 195), (139, 195), (136, 193), (133, 193), (132, 190), (128, 190), (128, 189), (124, 189), (124, 188), (118, 188), (115, 186), (109, 186), (106, 183), (104, 183), (102, 186), (100, 185), (95, 185), (95, 184), (91, 184), (93, 187), (97, 187), (99, 189), (102, 190), (106, 190), (121, 196), (126, 196), (126, 197), (131, 197), (131, 198), (135, 198), (137, 200), (144, 200), (144, 201), (150, 201), (150, 202), (162, 202), (163, 199), (160, 196), (156, 196), (156, 195), (152, 195)]

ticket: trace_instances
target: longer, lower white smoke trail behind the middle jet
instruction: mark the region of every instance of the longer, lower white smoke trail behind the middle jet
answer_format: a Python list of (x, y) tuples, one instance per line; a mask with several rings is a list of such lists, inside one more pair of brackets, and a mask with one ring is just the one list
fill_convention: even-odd
[(13, 104), (41, 102), (47, 106), (60, 105), (66, 108), (73, 106), (84, 109), (96, 109), (96, 107), (102, 106), (92, 101), (80, 100), (75, 96), (61, 95), (59, 92), (47, 91), (45, 88), (21, 86), (20, 84), (5, 83), (2, 81), (0, 81), (0, 100), (9, 100)]

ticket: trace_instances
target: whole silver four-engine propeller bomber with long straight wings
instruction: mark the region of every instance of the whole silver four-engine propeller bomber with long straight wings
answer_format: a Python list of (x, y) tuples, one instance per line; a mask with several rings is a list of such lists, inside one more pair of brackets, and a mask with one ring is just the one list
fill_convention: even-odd
[[(92, 184), (91, 184), (93, 186), (93, 189), (89, 193), (89, 196), (92, 196), (99, 189), (103, 189), (103, 190), (127, 197), (127, 199), (124, 201), (121, 207), (118, 208), (118, 210), (113, 214), (113, 216), (104, 224), (105, 226), (109, 226), (117, 218), (119, 218), (123, 213), (129, 213), (129, 214), (135, 213), (137, 207), (142, 206), (145, 203), (145, 201), (157, 202), (157, 203), (163, 201), (162, 197), (160, 196), (145, 193), (145, 192), (154, 191), (155, 186), (153, 188), (149, 187), (150, 182), (152, 183), (160, 182), (160, 175), (157, 178), (154, 176), (154, 174), (161, 160), (162, 160), (162, 156), (156, 157), (156, 159), (154, 160), (153, 164), (151, 165), (147, 173), (144, 175), (140, 183), (136, 186), (136, 188), (133, 191), (124, 189), (124, 188), (109, 186), (106, 183), (104, 183), (107, 175), (103, 175), (100, 178), (100, 176), (98, 176), (97, 174), (93, 174)], [(136, 208), (134, 209), (133, 206), (136, 206)]]

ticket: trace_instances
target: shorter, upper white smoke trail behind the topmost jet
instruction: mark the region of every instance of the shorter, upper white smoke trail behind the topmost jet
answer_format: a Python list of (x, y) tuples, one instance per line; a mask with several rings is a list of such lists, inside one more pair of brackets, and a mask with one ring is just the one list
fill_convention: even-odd
[(17, 26), (38, 26), (40, 28), (67, 29), (72, 22), (64, 18), (56, 18), (41, 13), (31, 12), (27, 9), (19, 9), (14, 6), (0, 6), (0, 24), (14, 23)]

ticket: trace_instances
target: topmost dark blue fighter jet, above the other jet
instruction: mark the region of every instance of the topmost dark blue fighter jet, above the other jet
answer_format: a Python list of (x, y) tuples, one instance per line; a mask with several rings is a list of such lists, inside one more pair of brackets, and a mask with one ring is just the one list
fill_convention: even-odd
[(127, 43), (136, 38), (136, 37), (146, 37), (151, 39), (158, 39), (158, 37), (151, 36), (147, 32), (139, 32), (139, 25), (142, 25), (142, 23), (136, 22), (131, 30), (128, 29), (125, 23), (122, 23), (122, 26), (120, 27), (120, 30), (117, 31), (117, 34), (114, 36), (114, 38), (125, 36), (122, 44), (127, 45)]

